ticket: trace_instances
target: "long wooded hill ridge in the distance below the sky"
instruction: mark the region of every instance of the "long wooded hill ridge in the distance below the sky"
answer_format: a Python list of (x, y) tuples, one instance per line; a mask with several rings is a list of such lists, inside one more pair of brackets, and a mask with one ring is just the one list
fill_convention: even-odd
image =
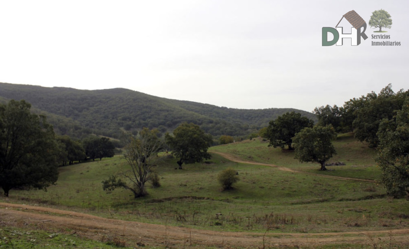
[(128, 89), (78, 90), (0, 83), (0, 102), (26, 100), (44, 113), (57, 133), (81, 137), (89, 133), (119, 138), (123, 131), (157, 128), (171, 132), (193, 122), (213, 136), (246, 136), (288, 111), (316, 120), (315, 114), (291, 108), (234, 109), (171, 100)]

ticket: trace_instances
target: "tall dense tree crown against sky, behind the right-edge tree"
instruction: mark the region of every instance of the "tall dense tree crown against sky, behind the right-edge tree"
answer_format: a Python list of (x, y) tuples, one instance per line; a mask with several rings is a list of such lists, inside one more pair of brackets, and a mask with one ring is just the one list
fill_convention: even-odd
[(356, 118), (353, 121), (355, 138), (365, 141), (371, 147), (378, 146), (378, 128), (380, 122), (386, 118), (391, 119), (396, 110), (402, 108), (409, 91), (394, 93), (391, 84), (382, 89), (377, 95), (372, 92), (366, 97), (362, 96), (361, 107), (355, 111)]

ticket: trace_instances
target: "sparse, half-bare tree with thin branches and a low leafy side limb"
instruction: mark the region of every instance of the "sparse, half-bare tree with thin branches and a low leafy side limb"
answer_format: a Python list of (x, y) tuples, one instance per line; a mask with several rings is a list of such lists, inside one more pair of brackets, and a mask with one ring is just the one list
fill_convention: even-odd
[(163, 142), (157, 137), (156, 129), (144, 128), (139, 132), (139, 137), (130, 138), (130, 143), (125, 148), (124, 158), (130, 170), (118, 173), (102, 181), (106, 191), (116, 188), (130, 190), (135, 198), (147, 194), (145, 184), (152, 180), (154, 187), (159, 187), (159, 177), (155, 172), (156, 162), (161, 160), (157, 153), (162, 149)]

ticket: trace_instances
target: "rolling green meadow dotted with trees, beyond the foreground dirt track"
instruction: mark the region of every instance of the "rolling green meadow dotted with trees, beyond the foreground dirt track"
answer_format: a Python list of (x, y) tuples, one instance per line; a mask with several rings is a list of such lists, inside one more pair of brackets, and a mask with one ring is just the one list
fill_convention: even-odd
[[(379, 179), (380, 171), (373, 160), (376, 152), (355, 141), (351, 134), (334, 142), (337, 155), (331, 160), (346, 165), (329, 166), (328, 171), (319, 171), (318, 164), (299, 163), (292, 152), (267, 145), (256, 138), (211, 147), (209, 151), (301, 172), (231, 162), (216, 153), (206, 163), (182, 165), (179, 170), (175, 169), (176, 159), (163, 153), (157, 166), (162, 186), (148, 184), (149, 195), (134, 199), (124, 189), (112, 193), (102, 189), (103, 179), (127, 169), (121, 156), (115, 156), (61, 167), (57, 185), (47, 192), (11, 190), (10, 197), (1, 197), (0, 202), (47, 205), (107, 218), (215, 231), (321, 233), (409, 225), (407, 200), (387, 197), (378, 183), (325, 178)], [(229, 167), (238, 171), (240, 180), (234, 189), (222, 191), (217, 176)]]

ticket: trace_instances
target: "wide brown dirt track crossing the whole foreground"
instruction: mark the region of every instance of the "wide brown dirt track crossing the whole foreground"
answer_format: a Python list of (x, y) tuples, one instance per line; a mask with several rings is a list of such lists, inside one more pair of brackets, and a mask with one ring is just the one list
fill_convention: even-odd
[[(0, 225), (31, 227), (60, 233), (76, 233), (76, 235), (101, 240), (105, 237), (117, 237), (126, 241), (126, 245), (137, 247), (137, 243), (149, 246), (169, 246), (174, 248), (213, 247), (263, 247), (263, 233), (218, 232), (185, 227), (169, 227), (142, 222), (114, 220), (92, 216), (85, 213), (63, 211), (48, 207), (18, 205), (0, 202)], [(264, 238), (266, 248), (279, 245), (302, 246), (340, 243), (367, 244), (369, 238), (403, 245), (409, 242), (409, 229), (384, 231), (363, 231), (345, 233), (267, 233)]]

